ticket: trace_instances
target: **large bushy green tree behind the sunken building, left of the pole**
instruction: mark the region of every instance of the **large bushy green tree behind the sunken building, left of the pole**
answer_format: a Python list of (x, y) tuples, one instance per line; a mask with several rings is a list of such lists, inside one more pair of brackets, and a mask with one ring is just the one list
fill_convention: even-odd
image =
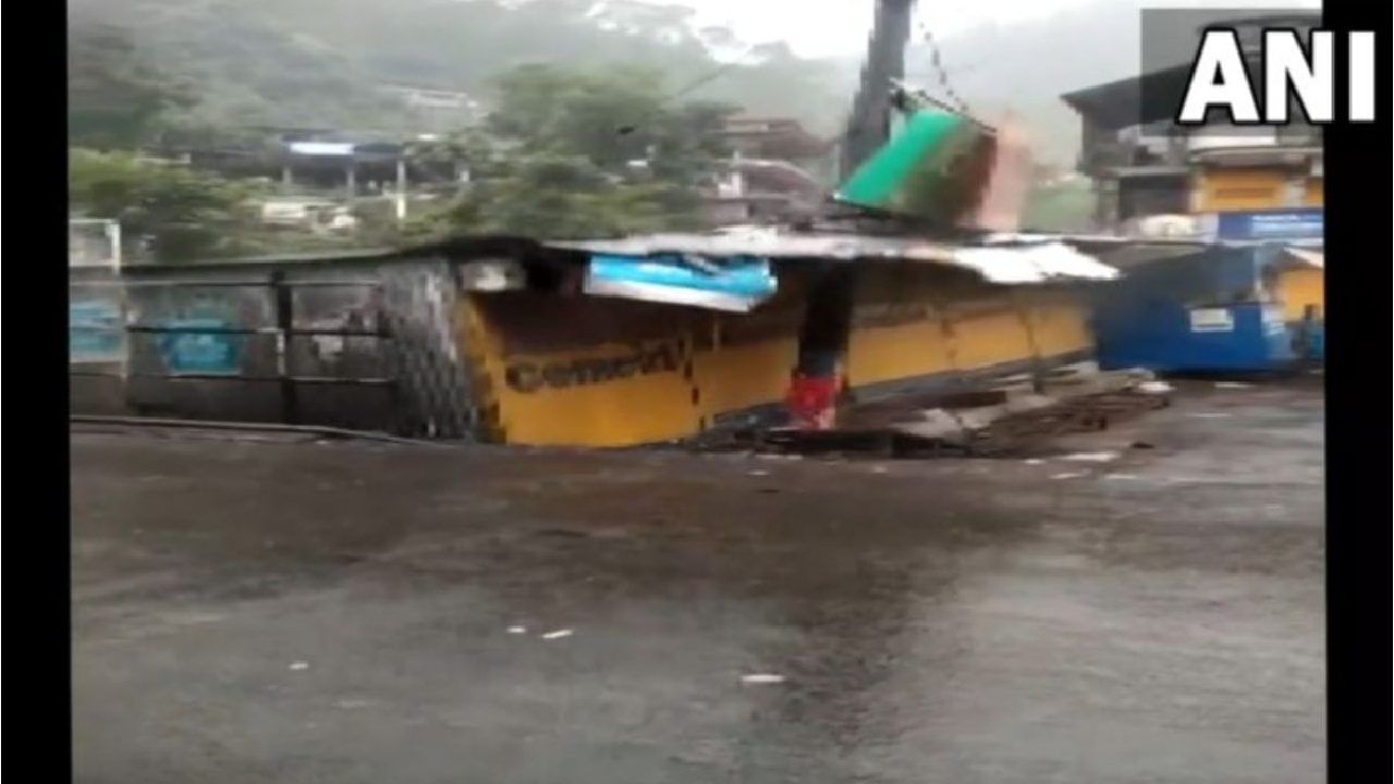
[(728, 155), (726, 105), (671, 106), (652, 71), (573, 73), (530, 64), (499, 78), (485, 126), (422, 158), (466, 166), (473, 183), (408, 236), (474, 232), (538, 237), (693, 229), (698, 187)]

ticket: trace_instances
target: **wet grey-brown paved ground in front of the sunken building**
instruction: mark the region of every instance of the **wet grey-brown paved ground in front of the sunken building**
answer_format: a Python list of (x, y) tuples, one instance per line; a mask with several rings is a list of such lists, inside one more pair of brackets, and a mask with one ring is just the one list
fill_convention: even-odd
[(1322, 781), (1310, 386), (1097, 460), (88, 428), (77, 780)]

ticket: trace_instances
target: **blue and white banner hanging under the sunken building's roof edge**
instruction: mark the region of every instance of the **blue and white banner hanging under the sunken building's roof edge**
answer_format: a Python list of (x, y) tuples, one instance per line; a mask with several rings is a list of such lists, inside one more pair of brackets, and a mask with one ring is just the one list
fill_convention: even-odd
[(769, 259), (707, 261), (680, 255), (592, 255), (587, 294), (749, 312), (774, 296)]

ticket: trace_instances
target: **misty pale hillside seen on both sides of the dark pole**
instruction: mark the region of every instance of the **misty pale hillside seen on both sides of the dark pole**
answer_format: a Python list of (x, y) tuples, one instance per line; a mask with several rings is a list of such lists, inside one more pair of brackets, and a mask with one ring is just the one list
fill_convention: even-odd
[[(1138, 3), (1100, 0), (977, 28), (944, 40), (944, 61), (976, 113), (1015, 113), (1043, 159), (1068, 163), (1078, 121), (1058, 96), (1135, 73)], [(192, 91), (180, 116), (191, 126), (411, 127), (382, 86), (487, 102), (493, 75), (553, 61), (658, 68), (675, 91), (690, 86), (683, 99), (793, 116), (832, 134), (860, 67), (751, 47), (728, 29), (696, 28), (680, 6), (631, 0), (72, 0), (70, 35), (93, 25), (128, 31), (153, 67)], [(912, 45), (907, 74), (937, 84), (926, 46)]]

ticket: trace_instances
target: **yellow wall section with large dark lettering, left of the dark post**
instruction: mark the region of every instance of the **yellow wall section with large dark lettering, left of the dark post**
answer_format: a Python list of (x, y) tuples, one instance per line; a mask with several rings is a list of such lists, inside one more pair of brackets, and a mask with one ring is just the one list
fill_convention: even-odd
[[(495, 438), (623, 446), (691, 435), (779, 403), (802, 318), (797, 280), (751, 315), (604, 297), (473, 294), (463, 343)], [(647, 361), (645, 361), (647, 360)]]

